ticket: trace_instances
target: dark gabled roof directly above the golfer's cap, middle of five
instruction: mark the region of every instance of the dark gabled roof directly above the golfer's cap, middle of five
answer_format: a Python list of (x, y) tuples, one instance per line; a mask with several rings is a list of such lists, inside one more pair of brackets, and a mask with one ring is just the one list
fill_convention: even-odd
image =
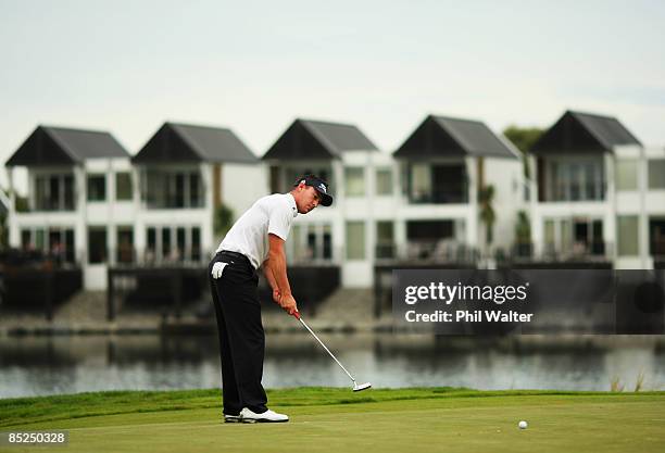
[(377, 147), (353, 125), (299, 118), (263, 159), (328, 160), (339, 159), (346, 151), (377, 151)]

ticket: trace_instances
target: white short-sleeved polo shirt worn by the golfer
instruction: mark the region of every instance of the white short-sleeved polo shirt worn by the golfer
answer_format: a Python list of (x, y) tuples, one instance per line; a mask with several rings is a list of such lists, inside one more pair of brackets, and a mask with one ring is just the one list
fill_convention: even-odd
[(286, 241), (297, 215), (296, 200), (290, 193), (260, 198), (236, 221), (217, 252), (242, 253), (254, 268), (259, 268), (268, 256), (268, 235), (272, 232)]

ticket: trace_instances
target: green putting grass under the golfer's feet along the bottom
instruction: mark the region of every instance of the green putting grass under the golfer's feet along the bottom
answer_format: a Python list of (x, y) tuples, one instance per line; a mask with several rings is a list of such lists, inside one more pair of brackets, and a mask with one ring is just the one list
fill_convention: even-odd
[(0, 431), (70, 431), (66, 448), (40, 452), (665, 451), (665, 392), (298, 388), (268, 399), (290, 423), (221, 424), (218, 390), (102, 392), (0, 400)]

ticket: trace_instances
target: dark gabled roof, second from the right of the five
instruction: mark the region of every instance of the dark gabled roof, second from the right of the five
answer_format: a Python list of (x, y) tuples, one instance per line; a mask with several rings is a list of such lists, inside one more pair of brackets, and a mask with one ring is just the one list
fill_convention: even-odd
[(393, 153), (402, 159), (487, 156), (517, 159), (512, 144), (472, 119), (428, 115)]

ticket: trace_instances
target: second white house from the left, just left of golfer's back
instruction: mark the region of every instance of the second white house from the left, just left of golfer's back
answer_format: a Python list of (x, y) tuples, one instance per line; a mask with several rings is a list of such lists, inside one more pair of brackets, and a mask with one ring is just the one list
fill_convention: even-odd
[(131, 163), (140, 189), (133, 247), (147, 265), (206, 264), (222, 239), (219, 207), (230, 223), (267, 191), (260, 160), (226, 128), (165, 123)]

